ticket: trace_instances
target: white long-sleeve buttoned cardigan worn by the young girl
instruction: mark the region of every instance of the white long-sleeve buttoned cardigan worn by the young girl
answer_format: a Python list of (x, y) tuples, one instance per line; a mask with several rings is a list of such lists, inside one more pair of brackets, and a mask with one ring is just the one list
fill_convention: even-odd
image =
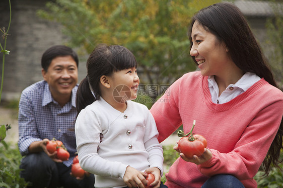
[(102, 98), (82, 110), (75, 125), (79, 161), (95, 174), (95, 187), (123, 187), (126, 167), (163, 174), (163, 150), (148, 108), (127, 101), (121, 113)]

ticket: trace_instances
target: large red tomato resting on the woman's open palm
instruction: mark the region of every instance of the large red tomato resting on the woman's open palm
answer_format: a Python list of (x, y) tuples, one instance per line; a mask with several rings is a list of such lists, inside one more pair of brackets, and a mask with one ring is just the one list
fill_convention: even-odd
[(180, 152), (184, 153), (187, 158), (192, 158), (193, 155), (201, 156), (207, 146), (207, 141), (203, 136), (195, 134), (193, 137), (193, 141), (190, 141), (189, 137), (185, 136), (178, 142)]

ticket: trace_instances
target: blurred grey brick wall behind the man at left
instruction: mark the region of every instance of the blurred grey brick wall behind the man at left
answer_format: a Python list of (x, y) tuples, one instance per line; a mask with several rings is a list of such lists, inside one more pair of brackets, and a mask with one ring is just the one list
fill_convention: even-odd
[[(21, 91), (36, 81), (42, 80), (41, 56), (50, 46), (64, 44), (57, 23), (36, 15), (43, 9), (46, 0), (12, 0), (12, 23), (7, 39), (10, 55), (5, 56), (5, 73), (2, 100), (19, 99)], [(0, 1), (0, 27), (8, 28), (9, 1)], [(2, 43), (3, 44), (3, 43)], [(2, 62), (2, 54), (0, 56)], [(80, 61), (79, 81), (86, 75), (85, 63)], [(2, 72), (2, 66), (0, 68)], [(1, 80), (1, 77), (0, 77)]]

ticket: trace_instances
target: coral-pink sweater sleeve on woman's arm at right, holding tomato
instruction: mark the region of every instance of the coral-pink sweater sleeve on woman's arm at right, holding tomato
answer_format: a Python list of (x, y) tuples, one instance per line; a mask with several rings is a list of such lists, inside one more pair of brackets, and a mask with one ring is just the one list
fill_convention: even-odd
[[(283, 101), (278, 101), (262, 109), (244, 130), (231, 152), (220, 153), (210, 149), (213, 157), (197, 166), (200, 172), (207, 176), (229, 173), (240, 180), (254, 177), (277, 133), (283, 114), (282, 107)], [(219, 139), (225, 142), (225, 135)]]

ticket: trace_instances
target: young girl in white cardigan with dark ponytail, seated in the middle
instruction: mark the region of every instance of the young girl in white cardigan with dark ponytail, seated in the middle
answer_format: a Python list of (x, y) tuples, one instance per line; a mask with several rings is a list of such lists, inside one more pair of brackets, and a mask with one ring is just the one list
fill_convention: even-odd
[(155, 176), (151, 187), (161, 184), (163, 150), (154, 118), (130, 101), (137, 96), (136, 67), (134, 55), (117, 45), (98, 45), (87, 61), (75, 132), (80, 164), (95, 174), (95, 187), (143, 188), (147, 173)]

